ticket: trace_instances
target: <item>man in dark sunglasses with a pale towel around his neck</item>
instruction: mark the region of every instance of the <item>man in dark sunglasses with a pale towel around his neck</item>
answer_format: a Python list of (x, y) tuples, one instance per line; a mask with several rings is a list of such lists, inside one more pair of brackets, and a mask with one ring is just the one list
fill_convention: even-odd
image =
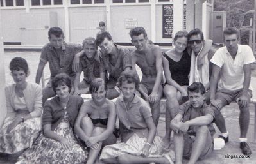
[[(204, 40), (200, 29), (192, 29), (188, 34), (189, 48), (191, 48), (191, 71), (189, 73), (189, 86), (193, 82), (201, 82), (208, 91), (210, 87), (210, 74), (212, 64), (210, 59), (220, 47), (214, 45), (212, 40)], [(207, 96), (209, 103), (209, 96)]]

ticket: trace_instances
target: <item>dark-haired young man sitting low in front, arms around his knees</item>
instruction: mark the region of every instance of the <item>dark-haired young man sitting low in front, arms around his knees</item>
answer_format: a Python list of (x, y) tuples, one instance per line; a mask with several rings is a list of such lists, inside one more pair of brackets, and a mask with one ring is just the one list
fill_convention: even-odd
[(180, 105), (179, 113), (171, 121), (175, 131), (176, 164), (182, 163), (182, 156), (190, 159), (188, 164), (196, 163), (198, 159), (207, 158), (214, 149), (214, 110), (205, 103), (205, 87), (194, 82), (187, 90), (189, 101)]

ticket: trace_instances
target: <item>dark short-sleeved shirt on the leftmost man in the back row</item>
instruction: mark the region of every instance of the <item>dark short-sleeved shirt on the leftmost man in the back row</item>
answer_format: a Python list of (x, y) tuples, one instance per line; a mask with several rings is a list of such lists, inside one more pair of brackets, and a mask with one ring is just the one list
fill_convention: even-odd
[(75, 54), (82, 50), (81, 45), (65, 43), (62, 48), (56, 50), (51, 43), (47, 43), (42, 48), (40, 61), (49, 62), (51, 78), (55, 77), (58, 73), (67, 73), (70, 77), (74, 78), (76, 74), (72, 71), (72, 64)]

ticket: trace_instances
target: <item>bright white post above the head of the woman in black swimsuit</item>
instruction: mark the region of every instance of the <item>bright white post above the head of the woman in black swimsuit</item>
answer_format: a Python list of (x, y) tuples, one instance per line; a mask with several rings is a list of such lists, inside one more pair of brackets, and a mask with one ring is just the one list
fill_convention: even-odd
[(184, 1), (173, 1), (173, 35), (183, 29), (183, 4)]

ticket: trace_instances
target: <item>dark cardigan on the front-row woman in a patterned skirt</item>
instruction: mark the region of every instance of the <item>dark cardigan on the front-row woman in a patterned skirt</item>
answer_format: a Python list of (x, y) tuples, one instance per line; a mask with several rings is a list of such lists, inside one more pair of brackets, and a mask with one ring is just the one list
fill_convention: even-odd
[[(70, 96), (67, 102), (66, 111), (71, 117), (71, 127), (74, 128), (74, 123), (81, 105), (83, 105), (83, 98), (80, 96)], [(64, 117), (65, 110), (60, 103), (58, 96), (55, 96), (44, 104), (42, 126), (51, 124), (51, 130), (55, 130), (62, 118)]]

